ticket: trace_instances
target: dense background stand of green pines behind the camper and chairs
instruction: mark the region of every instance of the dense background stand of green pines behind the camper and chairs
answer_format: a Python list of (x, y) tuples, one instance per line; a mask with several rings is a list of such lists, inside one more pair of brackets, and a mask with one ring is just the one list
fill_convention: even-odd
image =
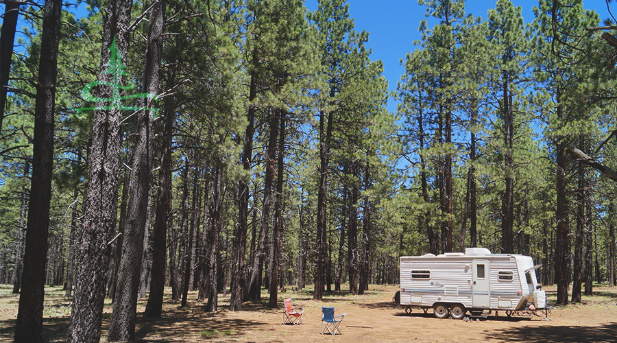
[(363, 294), (398, 282), (401, 255), (475, 246), (531, 255), (560, 304), (615, 285), (617, 185), (571, 156), (617, 161), (615, 27), (581, 1), (540, 0), (525, 25), (509, 0), (486, 19), (420, 0), (394, 94), (343, 0), (86, 2), (76, 19), (60, 0), (4, 1), (16, 342), (42, 342), (44, 285), (73, 296), (69, 342), (99, 340), (106, 296), (108, 340), (133, 340), (137, 298), (161, 316), (166, 286), (206, 311), (265, 287), (276, 307), (285, 285)]

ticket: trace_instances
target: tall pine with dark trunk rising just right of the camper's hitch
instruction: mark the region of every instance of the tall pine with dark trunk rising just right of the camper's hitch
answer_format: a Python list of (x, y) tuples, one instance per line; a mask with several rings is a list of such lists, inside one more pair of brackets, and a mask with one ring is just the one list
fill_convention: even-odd
[[(575, 48), (567, 43), (572, 36), (561, 34), (553, 36), (553, 3), (540, 1), (540, 7), (534, 8), (535, 21), (532, 24), (535, 38), (533, 40), (533, 61), (536, 81), (542, 86), (542, 92), (535, 97), (540, 106), (540, 120), (546, 125), (544, 137), (553, 149), (555, 158), (556, 206), (555, 221), (555, 282), (557, 283), (557, 304), (568, 304), (568, 285), (571, 281), (570, 248), (570, 197), (568, 196), (569, 163), (566, 147), (579, 132), (575, 119), (579, 113), (580, 82), (584, 82), (585, 71), (580, 65), (568, 64), (566, 60), (581, 60), (584, 49)], [(570, 8), (559, 10), (560, 27), (568, 33), (577, 32), (577, 37), (585, 36), (585, 28), (598, 22), (592, 11), (583, 10), (581, 1), (573, 1)], [(558, 38), (558, 39), (556, 39)], [(577, 38), (580, 39), (580, 38)], [(565, 58), (565, 59), (564, 59)]]

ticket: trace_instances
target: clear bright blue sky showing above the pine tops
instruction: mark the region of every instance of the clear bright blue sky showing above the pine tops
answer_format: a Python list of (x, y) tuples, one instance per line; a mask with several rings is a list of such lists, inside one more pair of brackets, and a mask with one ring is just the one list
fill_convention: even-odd
[[(497, 0), (465, 1), (465, 12), (487, 18), (487, 11), (495, 7)], [(405, 69), (400, 59), (415, 49), (414, 40), (420, 39), (418, 26), (422, 19), (427, 19), (426, 6), (418, 5), (417, 0), (348, 0), (350, 16), (354, 18), (356, 31), (363, 29), (369, 33), (367, 46), (372, 49), (372, 60), (382, 60), (383, 75), (389, 82), (389, 89), (396, 90), (396, 84)], [(525, 23), (531, 23), (534, 16), (532, 8), (537, 0), (512, 0), (515, 6), (522, 8)], [(304, 5), (311, 11), (317, 10), (317, 0), (305, 0)], [(605, 0), (583, 0), (585, 8), (595, 10), (603, 20), (609, 16)], [(617, 15), (617, 3), (613, 4)], [(435, 25), (427, 19), (428, 27)], [(388, 109), (396, 110), (396, 104), (390, 99)]]

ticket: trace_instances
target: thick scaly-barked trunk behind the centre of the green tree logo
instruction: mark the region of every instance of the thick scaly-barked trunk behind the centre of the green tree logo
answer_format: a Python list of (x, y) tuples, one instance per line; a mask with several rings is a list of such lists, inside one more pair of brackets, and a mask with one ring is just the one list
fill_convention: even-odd
[[(114, 39), (115, 48), (121, 56), (127, 55), (131, 7), (132, 1), (128, 0), (110, 0), (107, 4), (99, 80), (112, 82), (113, 75), (104, 71), (108, 69), (106, 64), (110, 62), (110, 49)], [(123, 82), (123, 78), (118, 77), (119, 81)], [(112, 102), (119, 101), (119, 94), (112, 94), (106, 88), (98, 90), (98, 97), (112, 99)], [(102, 106), (104, 105), (97, 104), (97, 107)], [(99, 342), (101, 338), (109, 244), (116, 217), (121, 118), (122, 112), (117, 108), (95, 110), (92, 143), (88, 156), (90, 171), (84, 226), (77, 255), (75, 296), (69, 324), (69, 343)]]

